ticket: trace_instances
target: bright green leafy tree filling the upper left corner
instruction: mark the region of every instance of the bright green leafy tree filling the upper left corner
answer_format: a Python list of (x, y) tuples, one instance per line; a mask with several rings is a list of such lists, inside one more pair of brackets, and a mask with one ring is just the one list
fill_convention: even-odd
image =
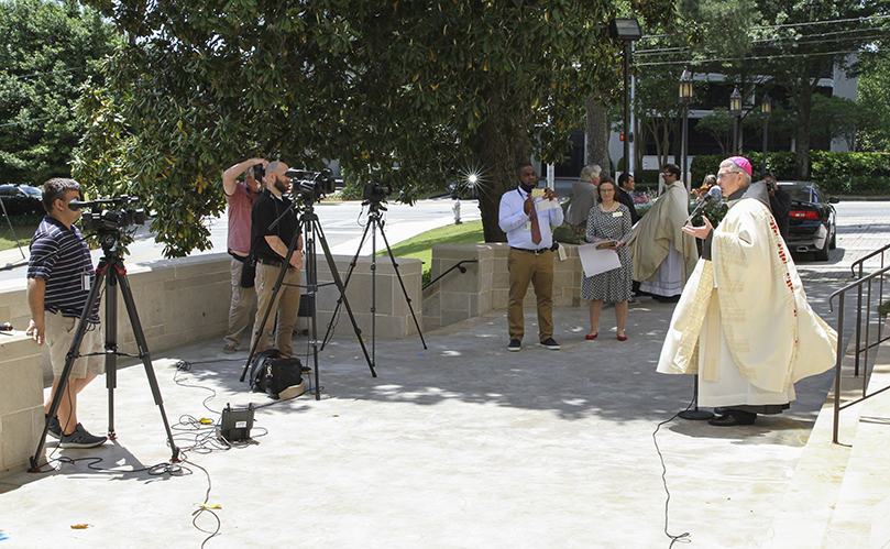
[(41, 185), (70, 174), (84, 128), (80, 87), (111, 54), (111, 25), (75, 2), (0, 1), (0, 171), (4, 182)]

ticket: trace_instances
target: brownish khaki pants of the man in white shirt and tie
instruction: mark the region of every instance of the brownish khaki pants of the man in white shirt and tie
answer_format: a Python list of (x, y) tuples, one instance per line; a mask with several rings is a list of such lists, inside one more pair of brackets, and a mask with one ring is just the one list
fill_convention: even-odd
[(507, 323), (509, 338), (523, 340), (525, 336), (525, 316), (523, 299), (526, 297), (528, 284), (535, 286), (538, 297), (538, 338), (543, 341), (553, 337), (553, 252), (540, 254), (510, 248), (507, 254), (509, 270), (509, 301), (507, 305)]

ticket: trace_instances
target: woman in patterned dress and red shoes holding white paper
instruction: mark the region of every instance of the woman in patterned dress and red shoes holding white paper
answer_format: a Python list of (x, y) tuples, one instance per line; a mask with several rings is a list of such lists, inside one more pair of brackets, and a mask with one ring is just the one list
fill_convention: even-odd
[(627, 206), (615, 199), (615, 184), (601, 182), (598, 204), (591, 208), (587, 216), (587, 242), (616, 240), (611, 246), (618, 254), (622, 262), (619, 268), (613, 268), (594, 276), (585, 276), (581, 284), (581, 297), (591, 300), (591, 331), (585, 339), (596, 339), (600, 334), (600, 312), (603, 301), (615, 303), (615, 319), (618, 325), (618, 341), (626, 341), (624, 323), (627, 319), (627, 300), (630, 299), (634, 266), (630, 262), (630, 252), (627, 250), (627, 239), (630, 238), (630, 210)]

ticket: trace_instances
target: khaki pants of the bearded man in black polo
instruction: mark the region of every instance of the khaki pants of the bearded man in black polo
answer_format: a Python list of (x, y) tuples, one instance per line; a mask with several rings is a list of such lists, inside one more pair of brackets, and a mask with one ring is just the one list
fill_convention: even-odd
[[(260, 323), (263, 321), (268, 304), (272, 301), (272, 288), (275, 286), (275, 281), (278, 279), (279, 272), (281, 266), (256, 264), (256, 320), (253, 323), (253, 341), (251, 341), (251, 344), (256, 341), (256, 333), (260, 330)], [(300, 279), (299, 271), (287, 267), (282, 281), (282, 287), (278, 289), (278, 295), (275, 296), (275, 303), (263, 327), (263, 333), (260, 334), (256, 352), (274, 347), (282, 354), (290, 356), (294, 353), (290, 339), (294, 337), (294, 326), (297, 323), (297, 314), (299, 312)], [(278, 314), (277, 325), (275, 321), (276, 311)], [(274, 342), (272, 339), (273, 327), (275, 327)]]

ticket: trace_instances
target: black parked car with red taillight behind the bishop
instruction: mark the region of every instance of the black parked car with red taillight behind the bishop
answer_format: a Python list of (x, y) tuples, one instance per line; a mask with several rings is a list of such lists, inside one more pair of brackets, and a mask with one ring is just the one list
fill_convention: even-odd
[(814, 252), (816, 261), (828, 261), (837, 242), (837, 197), (828, 197), (815, 183), (778, 182), (791, 195), (788, 217), (788, 248), (792, 252)]

